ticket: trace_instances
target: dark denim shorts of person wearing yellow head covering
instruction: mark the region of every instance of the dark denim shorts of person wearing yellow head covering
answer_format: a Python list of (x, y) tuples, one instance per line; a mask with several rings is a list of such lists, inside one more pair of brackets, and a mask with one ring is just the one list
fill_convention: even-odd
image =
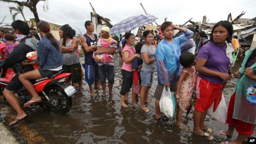
[(114, 66), (109, 66), (106, 64), (103, 64), (102, 66), (99, 66), (99, 74), (100, 74), (100, 83), (106, 82), (106, 78), (108, 78), (108, 83), (114, 84)]

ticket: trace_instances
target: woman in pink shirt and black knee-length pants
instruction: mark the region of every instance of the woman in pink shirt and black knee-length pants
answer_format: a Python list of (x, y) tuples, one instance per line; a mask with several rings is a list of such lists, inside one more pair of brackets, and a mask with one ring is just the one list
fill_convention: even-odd
[(124, 63), (121, 69), (123, 82), (120, 90), (121, 106), (124, 108), (128, 108), (128, 106), (124, 103), (124, 96), (128, 97), (129, 90), (132, 87), (132, 61), (136, 57), (140, 58), (140, 54), (135, 54), (136, 50), (132, 46), (133, 43), (134, 43), (134, 34), (126, 33), (124, 48), (122, 50)]

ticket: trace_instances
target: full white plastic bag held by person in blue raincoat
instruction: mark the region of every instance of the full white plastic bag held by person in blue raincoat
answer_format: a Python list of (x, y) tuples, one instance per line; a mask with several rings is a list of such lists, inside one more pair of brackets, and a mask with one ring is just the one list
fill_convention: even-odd
[(176, 102), (174, 93), (170, 91), (170, 88), (164, 87), (159, 105), (160, 111), (168, 118), (171, 118), (174, 115)]

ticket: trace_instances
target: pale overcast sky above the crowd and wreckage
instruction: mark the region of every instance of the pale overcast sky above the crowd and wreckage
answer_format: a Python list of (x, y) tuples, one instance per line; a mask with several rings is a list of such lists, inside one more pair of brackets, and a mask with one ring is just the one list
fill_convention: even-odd
[[(226, 20), (231, 12), (234, 19), (242, 11), (246, 12), (242, 18), (256, 17), (256, 0), (47, 0), (49, 9), (44, 12), (42, 6), (44, 1), (37, 5), (40, 20), (46, 20), (55, 24), (69, 24), (78, 33), (76, 26), (84, 34), (86, 32), (84, 22), (90, 20), (92, 3), (97, 14), (109, 18), (112, 24), (116, 24), (129, 16), (145, 14), (140, 3), (142, 2), (146, 12), (156, 16), (157, 24), (162, 24), (164, 18), (174, 22), (174, 24), (184, 24), (185, 21), (193, 18), (192, 21), (202, 21), (203, 16), (207, 16), (208, 22), (218, 22)], [(15, 6), (12, 3), (0, 1), (0, 20), (6, 16), (4, 23), (11, 23), (12, 16), (8, 9)], [(30, 10), (24, 7), (26, 20), (34, 18)], [(23, 20), (21, 14), (16, 16), (16, 20)], [(155, 23), (153, 23), (156, 25)], [(190, 23), (189, 23), (190, 24)]]

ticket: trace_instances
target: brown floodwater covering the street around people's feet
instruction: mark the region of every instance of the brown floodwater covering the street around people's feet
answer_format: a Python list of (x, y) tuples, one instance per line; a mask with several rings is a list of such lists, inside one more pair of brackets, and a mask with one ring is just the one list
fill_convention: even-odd
[[(238, 70), (240, 65), (241, 61), (236, 62), (232, 71)], [(154, 84), (149, 92), (151, 102), (146, 105), (150, 112), (144, 112), (132, 106), (131, 91), (130, 100), (127, 102), (130, 107), (121, 108), (119, 92), (122, 84), (122, 64), (119, 62), (119, 55), (117, 55), (114, 67), (113, 96), (102, 97), (102, 90), (95, 90), (96, 96), (90, 96), (88, 84), (83, 78), (84, 90), (76, 92), (72, 98), (72, 108), (67, 114), (56, 114), (40, 106), (24, 108), (29, 116), (10, 128), (8, 123), (16, 113), (10, 106), (0, 104), (0, 121), (21, 144), (219, 144), (222, 141), (236, 138), (236, 131), (234, 136), (228, 138), (215, 133), (213, 134), (214, 140), (206, 140), (193, 134), (194, 109), (187, 117), (183, 114), (183, 122), (190, 126), (190, 130), (180, 130), (175, 125), (175, 118), (170, 118), (171, 121), (167, 124), (155, 121), (153, 95), (157, 85), (156, 73)], [(227, 106), (235, 84), (236, 79), (232, 78), (224, 89)], [(108, 94), (108, 87), (106, 90)], [(228, 128), (227, 124), (222, 125), (209, 116), (206, 116), (205, 124), (215, 131)]]

